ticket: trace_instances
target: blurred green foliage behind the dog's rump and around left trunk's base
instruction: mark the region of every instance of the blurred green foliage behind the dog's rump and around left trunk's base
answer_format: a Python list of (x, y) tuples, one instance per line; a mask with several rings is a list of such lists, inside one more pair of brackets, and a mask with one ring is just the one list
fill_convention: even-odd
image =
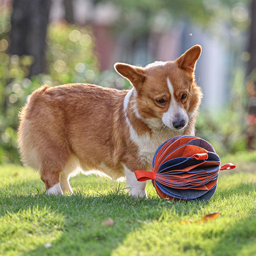
[[(9, 25), (8, 22), (1, 23)], [(7, 28), (6, 28), (7, 29)], [(28, 79), (33, 58), (8, 55), (1, 40), (8, 44), (8, 33), (0, 37), (0, 163), (19, 162), (17, 150), (18, 112), (28, 95), (42, 84), (55, 86), (68, 82), (92, 82), (98, 73), (94, 41), (89, 28), (52, 23), (47, 34), (49, 74)], [(8, 45), (7, 45), (8, 46)]]

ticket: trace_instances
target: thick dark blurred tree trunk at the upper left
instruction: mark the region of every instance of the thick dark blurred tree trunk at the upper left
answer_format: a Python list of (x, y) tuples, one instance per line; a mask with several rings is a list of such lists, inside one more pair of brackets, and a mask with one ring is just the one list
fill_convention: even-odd
[(29, 76), (46, 72), (46, 32), (50, 0), (14, 0), (10, 54), (31, 55)]

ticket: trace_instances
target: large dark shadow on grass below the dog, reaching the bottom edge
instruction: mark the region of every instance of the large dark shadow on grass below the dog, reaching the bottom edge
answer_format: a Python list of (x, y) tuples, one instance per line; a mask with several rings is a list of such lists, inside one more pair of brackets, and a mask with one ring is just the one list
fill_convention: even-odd
[[(47, 207), (52, 214), (61, 214), (65, 218), (61, 236), (50, 242), (49, 249), (42, 244), (23, 255), (110, 255), (130, 231), (140, 228), (145, 220), (160, 215), (158, 211), (150, 210), (158, 206), (159, 199), (131, 199), (122, 193), (88, 197), (82, 194), (70, 197), (38, 194), (16, 196), (12, 202), (22, 202), (24, 210)], [(18, 212), (18, 208), (11, 208), (9, 213)], [(114, 225), (103, 226), (102, 222), (110, 217)]]

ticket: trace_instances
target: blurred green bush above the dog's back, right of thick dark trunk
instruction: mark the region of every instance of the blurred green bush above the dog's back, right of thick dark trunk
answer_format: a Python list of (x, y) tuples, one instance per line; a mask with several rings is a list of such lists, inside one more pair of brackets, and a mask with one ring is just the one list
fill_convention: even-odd
[(92, 82), (97, 75), (97, 58), (89, 28), (52, 23), (48, 28), (47, 63), (54, 85)]

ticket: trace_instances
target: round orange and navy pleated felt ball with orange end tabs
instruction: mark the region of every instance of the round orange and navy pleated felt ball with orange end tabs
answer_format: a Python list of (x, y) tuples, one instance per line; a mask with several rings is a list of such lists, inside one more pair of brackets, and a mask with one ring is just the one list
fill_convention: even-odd
[(151, 164), (152, 172), (136, 170), (138, 181), (152, 180), (163, 199), (210, 199), (217, 188), (218, 172), (234, 169), (234, 164), (220, 166), (214, 147), (202, 138), (180, 135), (159, 146)]

